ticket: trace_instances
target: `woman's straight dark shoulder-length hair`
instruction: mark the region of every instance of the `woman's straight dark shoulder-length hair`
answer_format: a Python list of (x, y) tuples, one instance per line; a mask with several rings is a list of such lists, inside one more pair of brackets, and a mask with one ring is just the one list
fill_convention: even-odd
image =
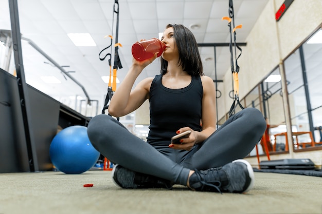
[[(178, 66), (191, 76), (204, 75), (198, 44), (192, 32), (183, 25), (168, 24), (173, 27), (173, 36), (179, 52)], [(166, 74), (168, 61), (161, 57), (161, 74)]]

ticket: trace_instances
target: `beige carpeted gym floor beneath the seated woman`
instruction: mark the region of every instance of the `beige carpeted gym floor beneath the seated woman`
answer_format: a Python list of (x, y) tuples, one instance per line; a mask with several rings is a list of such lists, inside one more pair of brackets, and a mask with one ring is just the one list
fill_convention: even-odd
[[(322, 178), (255, 172), (246, 194), (121, 189), (111, 171), (0, 174), (1, 214), (322, 213)], [(83, 187), (93, 183), (93, 187)]]

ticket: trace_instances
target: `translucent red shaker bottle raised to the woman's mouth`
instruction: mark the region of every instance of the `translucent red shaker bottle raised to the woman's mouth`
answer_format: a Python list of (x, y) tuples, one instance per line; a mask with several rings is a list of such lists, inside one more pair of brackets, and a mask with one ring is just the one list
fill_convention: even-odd
[(135, 60), (144, 61), (150, 59), (158, 52), (159, 57), (165, 50), (166, 45), (157, 38), (136, 42), (132, 46), (132, 55)]

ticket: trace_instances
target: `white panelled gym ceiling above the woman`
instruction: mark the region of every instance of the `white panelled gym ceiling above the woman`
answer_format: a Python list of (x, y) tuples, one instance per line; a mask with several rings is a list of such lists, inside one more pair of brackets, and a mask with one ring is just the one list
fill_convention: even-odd
[[(253, 28), (258, 16), (269, 0), (234, 0), (235, 24), (242, 24), (237, 30), (237, 42), (247, 42), (247, 35)], [(223, 16), (228, 16), (228, 0), (119, 0), (120, 60), (123, 68), (117, 72), (122, 81), (132, 62), (131, 47), (141, 38), (158, 37), (169, 23), (199, 24), (200, 29), (193, 30), (198, 43), (229, 43), (229, 29)], [(11, 29), (8, 0), (0, 0), (0, 29)], [(90, 99), (103, 102), (108, 84), (101, 76), (109, 75), (108, 61), (100, 61), (98, 54), (110, 45), (112, 33), (114, 0), (18, 0), (20, 29), (22, 36), (30, 39), (51, 59), (64, 67), (88, 93)], [(117, 7), (116, 7), (117, 8)], [(274, 14), (273, 14), (274, 15)], [(115, 31), (116, 23), (114, 23)], [(76, 47), (67, 33), (90, 33), (96, 47)], [(27, 83), (57, 98), (81, 95), (83, 90), (64, 78), (63, 73), (47, 59), (22, 42), (24, 70)], [(110, 52), (111, 49), (108, 50)], [(204, 72), (215, 79), (212, 47), (200, 48), (204, 61)], [(228, 47), (216, 48), (217, 79), (229, 69), (230, 55)], [(114, 54), (114, 47), (113, 47)], [(1, 55), (0, 55), (1, 56)], [(112, 63), (113, 64), (113, 63)], [(149, 65), (138, 77), (140, 81), (159, 73), (159, 60)], [(40, 77), (53, 75), (61, 84), (46, 84)], [(137, 82), (136, 82), (137, 83)], [(60, 100), (62, 102), (62, 100)]]

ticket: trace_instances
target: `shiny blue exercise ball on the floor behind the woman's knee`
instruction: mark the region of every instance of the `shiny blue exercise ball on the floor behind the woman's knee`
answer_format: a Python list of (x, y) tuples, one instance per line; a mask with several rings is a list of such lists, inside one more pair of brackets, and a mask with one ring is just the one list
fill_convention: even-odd
[(87, 136), (87, 127), (69, 126), (52, 139), (50, 148), (52, 164), (66, 174), (79, 174), (92, 168), (100, 153)]

